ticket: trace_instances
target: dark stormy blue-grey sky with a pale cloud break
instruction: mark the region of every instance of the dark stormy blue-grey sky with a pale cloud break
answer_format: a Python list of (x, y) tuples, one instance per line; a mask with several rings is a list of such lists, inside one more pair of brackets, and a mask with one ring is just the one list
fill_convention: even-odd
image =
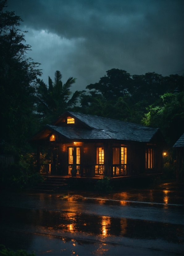
[[(60, 70), (82, 90), (111, 68), (164, 76), (183, 70), (183, 0), (8, 0), (24, 20), (43, 80)], [(183, 71), (178, 72), (182, 75)]]

